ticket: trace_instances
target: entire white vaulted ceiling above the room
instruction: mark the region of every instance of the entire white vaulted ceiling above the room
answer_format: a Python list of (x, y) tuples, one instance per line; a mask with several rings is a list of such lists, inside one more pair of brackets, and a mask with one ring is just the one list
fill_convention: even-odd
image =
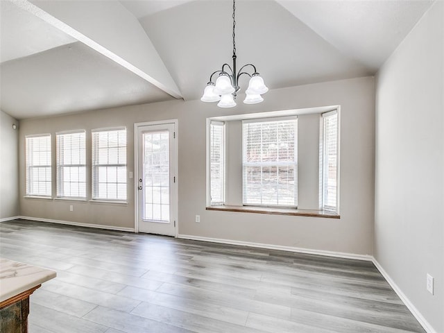
[[(431, 4), (237, 0), (237, 65), (253, 63), (270, 89), (373, 75)], [(232, 61), (227, 0), (0, 0), (0, 10), (0, 108), (17, 119), (198, 99)]]

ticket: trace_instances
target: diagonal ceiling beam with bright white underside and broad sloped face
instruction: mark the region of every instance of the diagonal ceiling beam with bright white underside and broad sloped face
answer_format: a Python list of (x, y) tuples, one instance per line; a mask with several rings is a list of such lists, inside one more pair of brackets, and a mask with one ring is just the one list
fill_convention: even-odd
[(10, 1), (167, 94), (182, 99), (148, 35), (119, 1)]

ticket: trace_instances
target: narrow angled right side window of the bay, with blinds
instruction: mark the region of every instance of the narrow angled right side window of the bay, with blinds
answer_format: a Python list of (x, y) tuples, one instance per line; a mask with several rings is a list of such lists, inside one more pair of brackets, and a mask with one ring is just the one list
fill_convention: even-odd
[(338, 114), (322, 114), (320, 139), (320, 203), (322, 210), (336, 212), (338, 201)]

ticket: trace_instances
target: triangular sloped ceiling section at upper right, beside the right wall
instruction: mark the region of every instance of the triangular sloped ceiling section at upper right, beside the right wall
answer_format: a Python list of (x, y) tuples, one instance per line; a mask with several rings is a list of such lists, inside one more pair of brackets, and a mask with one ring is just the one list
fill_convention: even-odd
[(336, 49), (376, 71), (432, 1), (278, 2)]

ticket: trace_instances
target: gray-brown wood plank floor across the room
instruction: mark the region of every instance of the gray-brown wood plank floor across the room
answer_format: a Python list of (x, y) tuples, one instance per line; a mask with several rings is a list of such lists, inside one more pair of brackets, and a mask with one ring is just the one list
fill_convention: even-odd
[(371, 262), (15, 220), (0, 256), (57, 271), (30, 332), (425, 332)]

